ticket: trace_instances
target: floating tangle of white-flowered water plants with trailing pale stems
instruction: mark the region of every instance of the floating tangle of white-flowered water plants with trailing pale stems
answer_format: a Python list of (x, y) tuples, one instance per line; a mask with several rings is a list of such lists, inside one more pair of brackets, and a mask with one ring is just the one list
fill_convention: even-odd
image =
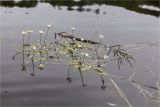
[[(70, 69), (74, 68), (80, 73), (82, 86), (85, 87), (86, 83), (84, 81), (83, 72), (92, 71), (96, 72), (98, 74), (97, 76), (101, 78), (101, 88), (103, 90), (106, 89), (104, 78), (106, 77), (111, 81), (111, 83), (113, 83), (120, 96), (130, 107), (132, 105), (114, 79), (124, 80), (131, 83), (139, 90), (140, 93), (142, 93), (145, 98), (159, 102), (156, 97), (143, 88), (149, 86), (141, 85), (133, 80), (135, 73), (128, 78), (122, 78), (117, 75), (112, 75), (105, 70), (109, 60), (116, 61), (119, 69), (121, 68), (121, 65), (124, 64), (124, 61), (128, 62), (128, 64), (133, 67), (133, 64), (136, 61), (122, 45), (111, 46), (103, 43), (102, 41), (104, 36), (102, 34), (97, 35), (97, 41), (77, 37), (74, 34), (76, 30), (74, 27), (71, 27), (71, 33), (54, 33), (54, 39), (48, 40), (48, 35), (52, 27), (52, 25), (47, 25), (46, 32), (40, 30), (39, 41), (35, 43), (30, 42), (30, 35), (33, 32), (32, 30), (22, 31), (22, 46), (19, 49), (14, 46), (17, 53), (12, 57), (12, 59), (15, 59), (17, 55), (22, 55), (22, 71), (27, 71), (25, 59), (30, 59), (32, 63), (31, 76), (35, 76), (35, 67), (40, 70), (47, 69), (45, 62), (53, 61), (57, 63), (66, 63), (68, 64), (66, 78), (68, 82), (72, 81)], [(25, 40), (25, 38), (27, 38), (27, 40)], [(35, 63), (38, 63), (38, 66), (35, 66)], [(154, 88), (160, 94), (159, 84), (160, 83), (157, 82), (156, 87), (150, 88)]]

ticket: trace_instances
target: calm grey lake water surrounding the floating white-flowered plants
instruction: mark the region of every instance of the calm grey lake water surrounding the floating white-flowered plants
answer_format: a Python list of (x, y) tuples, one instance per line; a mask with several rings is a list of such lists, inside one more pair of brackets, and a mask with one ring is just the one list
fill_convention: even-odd
[[(42, 0), (43, 1), (43, 0)], [(137, 0), (138, 1), (138, 0)], [(79, 72), (71, 71), (72, 83), (66, 82), (68, 66), (47, 63), (44, 72), (36, 69), (36, 76), (30, 76), (31, 64), (27, 63), (27, 72), (21, 71), (21, 57), (12, 60), (16, 53), (12, 44), (21, 44), (21, 32), (28, 28), (34, 30), (32, 40), (38, 39), (38, 30), (46, 30), (52, 24), (54, 32), (71, 32), (79, 37), (96, 40), (96, 28), (104, 35), (107, 44), (128, 45), (133, 43), (158, 43), (159, 3), (141, 0), (111, 2), (105, 0), (86, 1), (0, 1), (0, 65), (1, 65), (1, 106), (2, 107), (46, 107), (46, 106), (127, 106), (115, 92), (115, 88), (106, 81), (107, 88), (100, 88), (101, 80), (94, 72), (85, 72), (87, 87), (82, 87)], [(49, 36), (49, 39), (52, 39)], [(115, 63), (107, 65), (108, 72), (128, 76), (136, 72), (135, 79), (155, 86), (160, 72), (159, 47), (150, 46), (130, 51), (137, 60), (134, 68), (123, 65), (119, 71)], [(132, 48), (129, 48), (132, 50)], [(152, 76), (141, 64), (144, 62), (154, 73)], [(137, 90), (126, 82), (117, 81), (133, 106), (159, 106), (156, 102), (145, 101)], [(152, 91), (152, 90), (151, 90)], [(115, 106), (115, 105), (114, 105)]]

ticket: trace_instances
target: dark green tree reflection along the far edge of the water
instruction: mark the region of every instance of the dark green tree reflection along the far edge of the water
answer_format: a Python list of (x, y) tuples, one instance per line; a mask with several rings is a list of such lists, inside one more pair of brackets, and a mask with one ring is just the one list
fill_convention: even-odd
[[(49, 3), (53, 7), (58, 6), (58, 9), (61, 9), (61, 6), (66, 6), (67, 10), (73, 11), (77, 10), (79, 12), (83, 11), (94, 11), (96, 14), (100, 13), (100, 9), (97, 8), (95, 10), (92, 10), (90, 8), (84, 8), (84, 6), (91, 6), (91, 5), (112, 5), (112, 6), (119, 6), (123, 7), (125, 9), (135, 11), (138, 13), (153, 15), (156, 17), (159, 17), (160, 11), (157, 9), (149, 9), (149, 8), (142, 8), (143, 5), (153, 6), (156, 8), (159, 8), (159, 1), (158, 0), (128, 0), (127, 2), (116, 1), (116, 0), (80, 0), (80, 1), (74, 1), (74, 0), (41, 0), (40, 2), (43, 3)], [(0, 1), (0, 6), (4, 7), (26, 7), (26, 8), (33, 8), (36, 7), (38, 4), (37, 0), (22, 0), (19, 2), (15, 1)], [(78, 8), (74, 9), (73, 7), (77, 6)], [(103, 12), (105, 14), (106, 12)]]

